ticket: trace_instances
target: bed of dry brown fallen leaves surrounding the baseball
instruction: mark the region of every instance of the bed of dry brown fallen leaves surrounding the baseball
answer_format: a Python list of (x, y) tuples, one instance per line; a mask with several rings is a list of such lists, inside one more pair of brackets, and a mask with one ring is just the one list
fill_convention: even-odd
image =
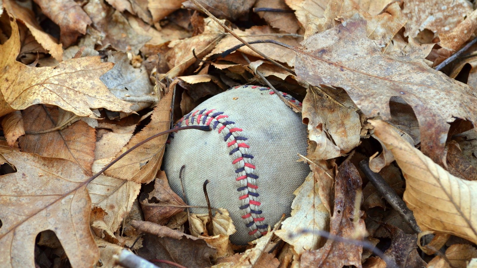
[[(476, 8), (0, 0), (0, 267), (120, 267), (123, 249), (160, 267), (477, 267)], [(167, 135), (142, 143), (269, 83), (303, 103), (310, 173), (237, 246), (227, 209), (190, 213), (169, 187)]]

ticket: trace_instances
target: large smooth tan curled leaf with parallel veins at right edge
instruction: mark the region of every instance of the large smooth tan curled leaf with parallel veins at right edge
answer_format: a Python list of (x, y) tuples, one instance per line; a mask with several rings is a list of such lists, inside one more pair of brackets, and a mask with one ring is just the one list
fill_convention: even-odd
[[(370, 120), (374, 134), (381, 139), (396, 158), (406, 179), (404, 201), (414, 212), (423, 231), (449, 233), (477, 241), (477, 215), (472, 207), (477, 201), (472, 193), (477, 182), (449, 174), (411, 144), (404, 141), (391, 127)], [(476, 204), (474, 204), (476, 203)]]

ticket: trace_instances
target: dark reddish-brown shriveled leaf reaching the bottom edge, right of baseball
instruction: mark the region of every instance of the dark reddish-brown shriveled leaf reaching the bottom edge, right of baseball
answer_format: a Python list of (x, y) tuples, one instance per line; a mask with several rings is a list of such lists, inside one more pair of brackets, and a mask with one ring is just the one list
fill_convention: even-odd
[[(365, 226), (361, 219), (363, 211), (355, 208), (356, 204), (359, 206), (362, 202), (361, 185), (358, 170), (347, 159), (339, 166), (336, 176), (334, 209), (330, 223), (331, 235), (351, 239), (364, 237)], [(301, 267), (342, 267), (344, 265), (360, 267), (362, 251), (362, 246), (329, 238), (323, 247), (305, 251), (301, 255), (300, 265)]]

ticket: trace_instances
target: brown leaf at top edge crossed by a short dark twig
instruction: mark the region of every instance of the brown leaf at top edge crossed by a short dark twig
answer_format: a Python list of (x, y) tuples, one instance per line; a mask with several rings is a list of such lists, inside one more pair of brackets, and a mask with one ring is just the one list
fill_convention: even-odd
[[(255, 2), (254, 8), (290, 10), (290, 8), (285, 4), (285, 0), (257, 0), (257, 2)], [(296, 33), (298, 30), (300, 30), (298, 20), (292, 13), (268, 11), (260, 11), (256, 13), (259, 14), (260, 18), (267, 21), (271, 27), (277, 28), (280, 31)]]

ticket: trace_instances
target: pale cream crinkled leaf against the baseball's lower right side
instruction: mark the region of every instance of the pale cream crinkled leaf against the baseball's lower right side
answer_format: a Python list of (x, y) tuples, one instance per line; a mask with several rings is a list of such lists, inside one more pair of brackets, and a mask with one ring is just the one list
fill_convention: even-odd
[[(293, 194), (296, 196), (291, 204), (291, 217), (283, 221), (281, 229), (275, 234), (293, 246), (301, 256), (306, 250), (314, 250), (322, 245), (322, 238), (314, 232), (326, 231), (329, 228), (330, 213), (322, 204), (319, 195), (321, 177), (310, 173), (303, 184)], [(301, 233), (307, 230), (310, 233)]]

